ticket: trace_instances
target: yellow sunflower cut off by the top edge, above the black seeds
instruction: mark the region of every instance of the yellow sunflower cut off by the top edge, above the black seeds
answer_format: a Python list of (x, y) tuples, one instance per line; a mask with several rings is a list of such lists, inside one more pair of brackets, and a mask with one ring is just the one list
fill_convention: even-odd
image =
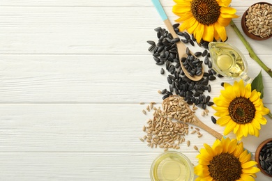
[(211, 42), (213, 38), (227, 40), (225, 26), (231, 22), (236, 10), (229, 7), (232, 0), (174, 0), (173, 13), (183, 22), (180, 31), (187, 29), (200, 42)]

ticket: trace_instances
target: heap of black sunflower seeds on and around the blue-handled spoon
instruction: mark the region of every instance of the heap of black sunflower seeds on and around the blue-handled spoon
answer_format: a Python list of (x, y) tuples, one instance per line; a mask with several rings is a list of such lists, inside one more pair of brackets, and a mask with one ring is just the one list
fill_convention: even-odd
[[(183, 43), (190, 42), (191, 45), (195, 45), (194, 36), (190, 36), (187, 32), (179, 32), (178, 29), (179, 24), (174, 24), (173, 28), (176, 33), (184, 37), (181, 39)], [(206, 109), (206, 106), (213, 105), (213, 102), (210, 102), (211, 97), (208, 95), (204, 95), (205, 91), (211, 92), (211, 85), (209, 85), (209, 81), (213, 81), (217, 77), (222, 77), (222, 75), (217, 74), (215, 70), (212, 69), (210, 54), (208, 49), (209, 42), (201, 41), (197, 43), (197, 45), (204, 47), (203, 52), (195, 52), (195, 56), (190, 54), (189, 49), (187, 49), (187, 57), (182, 57), (181, 61), (188, 65), (188, 68), (197, 67), (199, 65), (203, 65), (203, 61), (199, 59), (200, 56), (204, 58), (204, 65), (207, 65), (209, 70), (204, 72), (204, 77), (199, 81), (192, 81), (184, 74), (181, 69), (181, 64), (179, 61), (179, 54), (177, 52), (176, 41), (177, 39), (173, 39), (171, 33), (168, 33), (167, 30), (158, 27), (155, 29), (157, 32), (158, 43), (148, 40), (147, 42), (151, 45), (149, 47), (149, 51), (153, 52), (153, 59), (156, 61), (156, 65), (165, 65), (165, 69), (169, 72), (167, 76), (167, 82), (169, 84), (169, 88), (164, 88), (160, 90), (159, 93), (163, 94), (163, 100), (170, 95), (179, 95), (184, 97), (184, 100), (188, 104), (195, 104), (197, 107), (202, 109)], [(192, 65), (194, 64), (195, 65)], [(184, 64), (183, 64), (184, 65)], [(165, 74), (165, 69), (161, 68), (160, 74)], [(193, 74), (199, 74), (197, 70), (193, 70), (190, 72)]]

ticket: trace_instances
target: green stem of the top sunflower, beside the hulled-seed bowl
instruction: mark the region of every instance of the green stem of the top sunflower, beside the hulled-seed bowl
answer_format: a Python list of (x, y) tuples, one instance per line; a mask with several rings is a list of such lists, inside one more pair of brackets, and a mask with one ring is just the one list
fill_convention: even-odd
[[(239, 38), (241, 39), (241, 41), (243, 42), (243, 45), (245, 45), (245, 48), (248, 49), (249, 55), (250, 57), (255, 60), (269, 75), (270, 77), (272, 77), (272, 70), (271, 68), (268, 68), (262, 61), (261, 59), (259, 59), (259, 57), (257, 56), (257, 54), (255, 54), (255, 52), (253, 51), (252, 47), (250, 46), (250, 44), (248, 43), (247, 40), (245, 40), (245, 38), (243, 37), (243, 35), (241, 34), (241, 32), (239, 31), (239, 29), (237, 28), (237, 26), (234, 24), (233, 21), (231, 21), (230, 26), (232, 26), (232, 28), (234, 29), (235, 33), (237, 34), (237, 36), (239, 36)], [(272, 116), (272, 115), (271, 115)]]

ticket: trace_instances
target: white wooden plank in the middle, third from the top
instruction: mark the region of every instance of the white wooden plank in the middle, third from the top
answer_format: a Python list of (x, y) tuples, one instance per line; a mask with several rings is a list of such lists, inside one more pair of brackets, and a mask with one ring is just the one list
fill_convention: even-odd
[[(149, 45), (144, 45), (143, 51), (147, 52)], [(266, 63), (269, 57), (260, 56)], [(261, 68), (249, 56), (246, 58), (250, 77), (257, 76)], [(155, 64), (151, 53), (143, 56), (0, 55), (0, 63), (2, 103), (161, 102), (163, 96), (158, 90), (169, 89), (169, 72), (160, 74), (162, 66)], [(264, 71), (263, 76), (265, 95), (271, 97), (271, 78)], [(210, 81), (212, 91), (205, 94), (217, 97), (222, 81), (233, 82), (227, 78)]]

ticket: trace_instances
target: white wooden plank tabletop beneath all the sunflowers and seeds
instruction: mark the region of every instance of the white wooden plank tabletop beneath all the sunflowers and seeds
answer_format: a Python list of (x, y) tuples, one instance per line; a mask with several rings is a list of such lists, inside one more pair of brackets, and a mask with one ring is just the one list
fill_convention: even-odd
[[(233, 0), (232, 7), (241, 16), (255, 2)], [(161, 3), (174, 23), (174, 1)], [(234, 22), (241, 30), (241, 17)], [(152, 117), (139, 102), (160, 104), (157, 91), (168, 87), (167, 74), (147, 50), (158, 26), (165, 28), (149, 0), (0, 0), (0, 180), (150, 180), (151, 163), (163, 149), (139, 141)], [(227, 35), (256, 77), (260, 66), (231, 27)], [(245, 38), (271, 65), (272, 39)], [(272, 78), (262, 73), (264, 103), (272, 109)], [(233, 82), (212, 81), (211, 97), (219, 95), (222, 81)], [(209, 110), (197, 116), (222, 133)], [(243, 139), (253, 155), (272, 137), (271, 128), (268, 118), (259, 138)], [(190, 147), (181, 145), (193, 164), (193, 145), (216, 140), (202, 134), (186, 137)], [(257, 173), (256, 180), (271, 179)]]

